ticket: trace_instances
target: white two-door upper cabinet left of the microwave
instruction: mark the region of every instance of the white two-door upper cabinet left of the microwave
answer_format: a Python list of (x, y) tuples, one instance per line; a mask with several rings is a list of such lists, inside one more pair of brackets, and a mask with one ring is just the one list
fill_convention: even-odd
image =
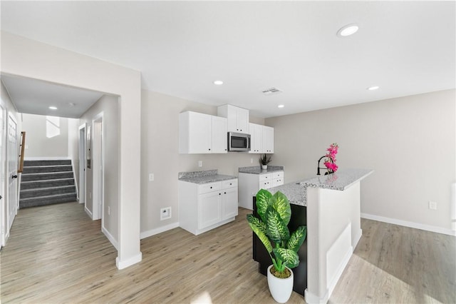
[(180, 113), (179, 153), (227, 153), (227, 118)]

